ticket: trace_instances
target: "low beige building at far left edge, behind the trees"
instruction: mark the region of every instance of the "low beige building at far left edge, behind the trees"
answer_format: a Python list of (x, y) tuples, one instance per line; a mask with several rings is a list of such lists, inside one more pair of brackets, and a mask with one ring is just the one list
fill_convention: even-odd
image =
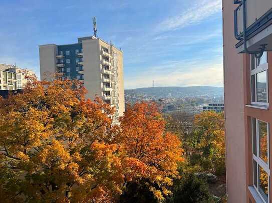
[(27, 75), (34, 71), (22, 69), (15, 65), (0, 64), (0, 90), (17, 90), (25, 87)]

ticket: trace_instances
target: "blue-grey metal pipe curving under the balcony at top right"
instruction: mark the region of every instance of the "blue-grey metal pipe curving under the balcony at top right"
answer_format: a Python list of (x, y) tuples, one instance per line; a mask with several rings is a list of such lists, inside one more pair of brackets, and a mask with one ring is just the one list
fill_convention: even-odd
[(255, 57), (258, 59), (258, 63), (259, 63), (259, 59), (260, 57), (263, 55), (263, 52), (265, 50), (265, 46), (267, 44), (261, 44), (261, 48), (259, 48), (260, 50), (259, 51), (249, 51), (247, 49), (247, 46), (246, 46), (246, 7), (245, 7), (245, 1), (246, 0), (242, 0), (242, 4), (243, 4), (243, 46), (244, 46), (244, 51), (245, 53), (248, 53), (248, 54), (254, 54)]

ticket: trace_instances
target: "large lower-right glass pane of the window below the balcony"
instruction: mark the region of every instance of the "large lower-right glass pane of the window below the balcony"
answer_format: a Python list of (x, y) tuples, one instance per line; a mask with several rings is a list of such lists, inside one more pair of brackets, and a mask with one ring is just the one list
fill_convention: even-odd
[(257, 102), (267, 102), (266, 98), (266, 71), (257, 73)]

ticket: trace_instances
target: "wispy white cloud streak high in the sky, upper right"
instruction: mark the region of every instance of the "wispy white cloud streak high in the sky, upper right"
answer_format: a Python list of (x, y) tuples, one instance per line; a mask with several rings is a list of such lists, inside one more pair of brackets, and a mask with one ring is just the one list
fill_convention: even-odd
[(220, 10), (221, 0), (197, 0), (197, 3), (181, 14), (161, 22), (158, 26), (158, 31), (175, 30), (191, 24), (197, 24)]

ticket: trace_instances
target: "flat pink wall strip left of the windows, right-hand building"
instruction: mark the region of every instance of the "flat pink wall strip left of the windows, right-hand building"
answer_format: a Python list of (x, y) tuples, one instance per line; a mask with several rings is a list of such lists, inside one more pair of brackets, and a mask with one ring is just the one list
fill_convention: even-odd
[(228, 203), (246, 203), (243, 54), (237, 54), (233, 0), (223, 1), (226, 176)]

